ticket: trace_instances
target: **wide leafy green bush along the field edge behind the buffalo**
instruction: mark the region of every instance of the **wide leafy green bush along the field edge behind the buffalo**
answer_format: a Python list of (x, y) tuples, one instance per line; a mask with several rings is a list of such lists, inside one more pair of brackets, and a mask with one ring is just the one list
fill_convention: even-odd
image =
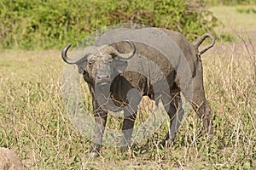
[(0, 0), (0, 48), (62, 48), (127, 22), (180, 31), (189, 39), (217, 24), (203, 0)]

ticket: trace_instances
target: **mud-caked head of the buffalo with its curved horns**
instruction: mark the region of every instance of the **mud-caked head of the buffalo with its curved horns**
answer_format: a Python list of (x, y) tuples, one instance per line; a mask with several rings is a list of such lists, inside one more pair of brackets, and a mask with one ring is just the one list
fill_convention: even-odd
[(104, 85), (112, 82), (113, 78), (125, 71), (127, 59), (130, 59), (136, 51), (133, 42), (126, 41), (131, 47), (131, 52), (121, 54), (110, 45), (102, 47), (89, 47), (85, 49), (85, 54), (79, 59), (67, 57), (67, 50), (70, 44), (62, 50), (62, 59), (70, 65), (78, 65), (79, 73), (83, 73), (84, 80), (92, 85)]

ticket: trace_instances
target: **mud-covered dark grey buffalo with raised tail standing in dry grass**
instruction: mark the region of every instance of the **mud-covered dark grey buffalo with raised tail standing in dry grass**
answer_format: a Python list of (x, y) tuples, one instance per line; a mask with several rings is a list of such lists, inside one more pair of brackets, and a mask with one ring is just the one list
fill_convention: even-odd
[[(212, 43), (199, 51), (207, 37)], [(181, 93), (201, 118), (203, 132), (212, 134), (212, 113), (204, 91), (201, 54), (214, 43), (209, 33), (189, 43), (177, 31), (149, 27), (107, 31), (77, 59), (67, 57), (71, 46), (67, 45), (62, 50), (62, 59), (67, 64), (78, 65), (93, 99), (96, 137), (90, 156), (99, 156), (109, 110), (124, 111), (124, 143), (131, 143), (138, 105), (144, 95), (154, 99), (156, 105), (161, 100), (170, 116), (172, 129), (163, 145), (174, 139), (183, 116)]]

